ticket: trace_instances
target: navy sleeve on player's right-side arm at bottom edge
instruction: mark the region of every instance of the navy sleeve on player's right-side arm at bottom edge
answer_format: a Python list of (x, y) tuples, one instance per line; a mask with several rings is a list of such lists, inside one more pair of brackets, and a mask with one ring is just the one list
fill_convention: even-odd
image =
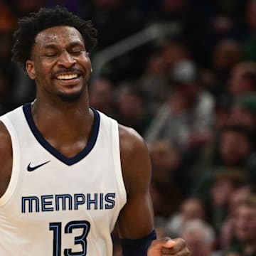
[(120, 239), (123, 256), (146, 256), (151, 242), (156, 239), (156, 230), (140, 239)]

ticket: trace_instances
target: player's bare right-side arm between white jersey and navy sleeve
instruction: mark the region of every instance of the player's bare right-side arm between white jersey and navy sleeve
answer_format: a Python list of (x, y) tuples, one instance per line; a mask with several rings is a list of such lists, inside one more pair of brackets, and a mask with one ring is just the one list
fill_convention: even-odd
[(120, 238), (137, 239), (154, 228), (153, 209), (149, 196), (151, 162), (142, 137), (133, 129), (119, 127), (120, 151), (127, 204), (119, 214)]

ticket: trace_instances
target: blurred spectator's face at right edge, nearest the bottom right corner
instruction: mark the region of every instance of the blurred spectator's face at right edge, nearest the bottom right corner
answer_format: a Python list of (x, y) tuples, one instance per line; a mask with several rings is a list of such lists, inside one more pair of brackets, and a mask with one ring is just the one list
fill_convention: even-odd
[(256, 206), (238, 207), (235, 217), (235, 234), (244, 242), (256, 242)]

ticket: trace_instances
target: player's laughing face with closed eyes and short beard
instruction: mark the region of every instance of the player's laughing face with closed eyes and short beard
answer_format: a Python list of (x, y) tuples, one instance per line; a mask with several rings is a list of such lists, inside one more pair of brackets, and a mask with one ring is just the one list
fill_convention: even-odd
[(85, 91), (91, 63), (85, 43), (76, 28), (55, 26), (38, 33), (26, 70), (36, 80), (37, 97), (57, 95), (75, 101)]

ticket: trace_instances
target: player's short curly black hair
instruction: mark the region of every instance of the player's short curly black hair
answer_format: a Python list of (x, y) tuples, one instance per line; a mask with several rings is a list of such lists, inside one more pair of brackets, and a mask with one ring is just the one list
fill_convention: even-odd
[(85, 21), (63, 6), (41, 8), (36, 13), (18, 20), (19, 28), (14, 32), (14, 46), (11, 50), (12, 60), (26, 68), (26, 60), (31, 58), (31, 51), (38, 33), (53, 26), (72, 26), (81, 33), (90, 53), (97, 45), (97, 29), (92, 21)]

